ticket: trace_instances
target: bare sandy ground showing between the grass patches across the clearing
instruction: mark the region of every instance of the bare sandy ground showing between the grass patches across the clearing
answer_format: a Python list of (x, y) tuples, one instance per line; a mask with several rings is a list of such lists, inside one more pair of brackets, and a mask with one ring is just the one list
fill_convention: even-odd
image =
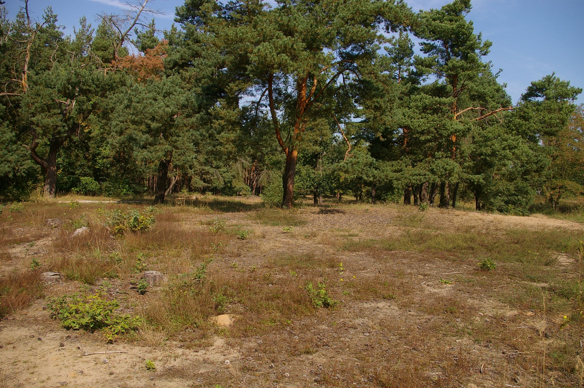
[[(206, 228), (200, 225), (201, 220), (219, 216), (227, 223), (249, 225), (263, 234), (261, 238), (236, 242), (245, 244), (245, 249), (239, 251), (237, 258), (225, 254), (224, 263), (237, 260), (245, 267), (261, 266), (274, 252), (286, 251), (293, 246), (297, 253), (338, 257), (338, 261), (350, 268), (350, 274), (359, 277), (398, 274), (403, 284), (411, 287), (411, 294), (401, 301), (345, 303), (342, 309), (333, 313), (318, 312), (316, 316), (295, 321), (277, 336), (237, 340), (214, 337), (194, 347), (180, 338), (155, 346), (131, 341), (105, 344), (99, 334), (62, 330), (44, 308), (46, 300), (37, 300), (26, 310), (0, 321), (0, 387), (214, 387), (215, 383), (224, 387), (370, 386), (373, 380), (367, 380), (367, 373), (363, 370), (357, 372), (360, 366), (370, 368), (373, 355), (383, 353), (384, 359), (401, 359), (404, 368), (412, 368), (416, 362), (427, 358), (425, 349), (433, 341), (442, 342), (443, 354), (439, 357), (433, 353), (429, 357), (430, 363), (423, 363), (424, 373), (429, 376), (427, 386), (436, 383), (443, 386), (440, 378), (446, 373), (447, 365), (459, 362), (459, 359), (464, 359), (468, 364), (465, 368), (471, 372), (457, 384), (448, 386), (534, 386), (536, 380), (526, 374), (525, 367), (512, 362), (513, 358), (520, 356), (519, 353), (514, 354), (513, 349), (505, 347), (489, 346), (488, 341), (471, 340), (468, 335), (440, 334), (434, 313), (427, 312), (427, 307), (422, 308), (422, 299), (464, 300), (472, 319), (481, 322), (509, 320), (510, 326), (513, 323), (516, 327), (524, 327), (510, 328), (512, 337), (519, 335), (519, 341), (522, 341), (522, 335), (528, 337), (524, 333), (533, 331), (535, 334), (526, 340), (538, 338), (536, 328), (543, 323), (537, 313), (512, 310), (495, 302), (491, 296), (473, 295), (466, 288), (440, 283), (445, 274), (458, 272), (452, 276), (477, 279), (481, 284), (482, 275), (471, 262), (432, 260), (429, 264), (424, 254), (405, 251), (394, 251), (389, 260), (381, 262), (364, 252), (339, 252), (331, 244), (339, 230), (353, 231), (369, 238), (395, 235), (401, 229), (396, 223), (408, 216), (403, 209), (346, 207), (323, 214), (310, 207), (299, 209), (298, 214), (307, 223), (294, 227), (293, 233), (283, 233), (281, 226), (250, 221), (247, 212), (182, 215), (182, 222), (193, 228)], [(411, 214), (415, 214), (415, 209), (412, 208)], [(432, 209), (424, 217), (425, 224), (439, 228), (463, 225), (484, 230), (584, 229), (579, 223), (543, 216), (517, 217)], [(305, 235), (310, 237), (303, 237)], [(32, 246), (22, 243), (11, 247), (12, 260), (0, 264), (0, 273), (26, 268), (33, 256), (43, 257), (56, 236), (53, 232), (36, 240)], [(572, 268), (573, 257), (560, 255), (556, 270), (567, 274)], [(497, 292), (498, 286), (484, 285), (491, 288), (490, 295)], [(78, 285), (70, 282), (52, 284), (46, 286), (46, 294), (63, 295), (77, 289)], [(430, 337), (427, 336), (429, 331), (434, 333)], [(283, 344), (276, 346), (274, 341)], [(290, 351), (298, 341), (310, 344), (315, 351), (306, 354)], [(288, 349), (288, 352), (282, 353), (283, 349)], [(111, 353), (82, 355), (92, 352)], [(155, 362), (156, 370), (144, 367), (146, 359)], [(526, 362), (529, 363), (529, 359)], [(427, 365), (434, 366), (429, 368)], [(323, 380), (325, 375), (326, 381)]]

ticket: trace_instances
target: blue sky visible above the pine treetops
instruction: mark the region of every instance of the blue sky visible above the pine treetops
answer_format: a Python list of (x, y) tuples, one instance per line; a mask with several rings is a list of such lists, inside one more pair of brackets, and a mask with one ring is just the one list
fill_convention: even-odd
[[(65, 34), (85, 15), (93, 26), (100, 12), (120, 12), (118, 0), (29, 0), (30, 9), (41, 16), (46, 6), (53, 6)], [(440, 8), (447, 0), (409, 0), (414, 11)], [(157, 16), (157, 27), (172, 25), (176, 6), (183, 0), (156, 0), (152, 8), (166, 12)], [(13, 17), (23, 3), (6, 0), (9, 16)], [(493, 42), (486, 60), (493, 68), (502, 68), (500, 82), (507, 83), (507, 93), (517, 102), (521, 93), (544, 75), (555, 72), (573, 86), (584, 88), (584, 0), (474, 0), (468, 18), (475, 32)], [(582, 100), (582, 99), (581, 99)], [(582, 101), (580, 101), (582, 102)]]

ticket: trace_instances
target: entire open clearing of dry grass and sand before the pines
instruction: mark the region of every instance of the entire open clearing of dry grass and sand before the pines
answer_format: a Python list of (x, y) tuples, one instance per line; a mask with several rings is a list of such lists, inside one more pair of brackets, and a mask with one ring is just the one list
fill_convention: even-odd
[(2, 387), (582, 382), (581, 223), (212, 197), (13, 210), (0, 214)]

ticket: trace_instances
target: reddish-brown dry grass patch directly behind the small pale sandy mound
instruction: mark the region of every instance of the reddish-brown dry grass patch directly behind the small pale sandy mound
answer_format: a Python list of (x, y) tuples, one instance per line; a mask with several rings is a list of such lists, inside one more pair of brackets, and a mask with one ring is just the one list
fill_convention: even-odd
[(230, 335), (256, 335), (286, 320), (314, 311), (304, 291), (304, 282), (292, 279), (281, 284), (266, 274), (251, 272), (231, 275), (214, 271), (197, 281), (196, 274), (173, 277), (155, 298), (141, 305), (141, 315), (154, 326), (172, 332), (213, 326), (208, 319), (217, 314), (241, 316)]

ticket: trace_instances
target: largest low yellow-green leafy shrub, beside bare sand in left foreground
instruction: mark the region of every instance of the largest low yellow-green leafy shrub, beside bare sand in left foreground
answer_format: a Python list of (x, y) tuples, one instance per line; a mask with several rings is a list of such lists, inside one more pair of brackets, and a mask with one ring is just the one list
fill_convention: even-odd
[(102, 330), (108, 342), (120, 334), (136, 330), (141, 324), (138, 316), (116, 314), (119, 306), (116, 299), (106, 300), (100, 292), (84, 296), (65, 295), (48, 303), (53, 318), (61, 321), (61, 327), (68, 330)]

